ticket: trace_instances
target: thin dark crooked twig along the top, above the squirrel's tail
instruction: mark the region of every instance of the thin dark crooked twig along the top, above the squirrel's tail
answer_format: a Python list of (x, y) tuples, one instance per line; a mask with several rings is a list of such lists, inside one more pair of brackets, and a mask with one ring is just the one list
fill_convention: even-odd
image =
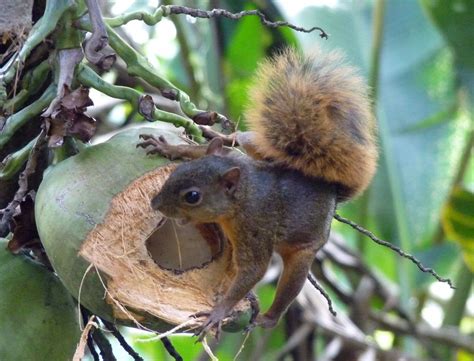
[(329, 37), (328, 34), (322, 28), (318, 26), (313, 26), (310, 29), (306, 29), (300, 26), (290, 24), (288, 21), (269, 21), (265, 17), (265, 14), (263, 14), (260, 10), (245, 10), (245, 11), (240, 11), (238, 13), (231, 13), (230, 11), (227, 11), (225, 9), (201, 10), (201, 9), (188, 8), (186, 6), (169, 5), (169, 6), (164, 6), (163, 15), (166, 16), (167, 13), (186, 14), (194, 18), (204, 18), (204, 19), (224, 17), (224, 18), (228, 18), (232, 20), (239, 20), (244, 16), (258, 16), (262, 24), (269, 28), (278, 28), (281, 26), (287, 26), (290, 29), (303, 32), (303, 33), (311, 33), (317, 30), (319, 31), (320, 33), (319, 36), (321, 38), (327, 39)]

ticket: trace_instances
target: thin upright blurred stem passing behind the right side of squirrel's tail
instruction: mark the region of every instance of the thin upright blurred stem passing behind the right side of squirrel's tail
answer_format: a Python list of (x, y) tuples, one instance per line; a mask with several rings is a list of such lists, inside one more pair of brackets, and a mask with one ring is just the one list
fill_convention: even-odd
[[(385, 0), (377, 0), (374, 7), (373, 15), (373, 28), (372, 28), (372, 49), (370, 55), (370, 68), (369, 68), (369, 87), (372, 92), (372, 106), (374, 112), (377, 111), (377, 96), (378, 96), (378, 85), (379, 85), (379, 73), (380, 73), (380, 57), (382, 53), (382, 39), (384, 30), (384, 17), (385, 17)], [(371, 188), (368, 188), (359, 200), (359, 217), (357, 223), (363, 227), (367, 226), (369, 218), (369, 201), (370, 201)], [(359, 251), (364, 254), (365, 250), (364, 236), (359, 234), (357, 236), (357, 246)]]

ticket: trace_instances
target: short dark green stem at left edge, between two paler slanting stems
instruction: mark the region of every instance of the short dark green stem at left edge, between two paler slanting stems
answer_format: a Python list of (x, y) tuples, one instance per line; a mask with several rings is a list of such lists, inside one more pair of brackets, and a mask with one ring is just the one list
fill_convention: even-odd
[(45, 60), (25, 74), (21, 84), (21, 91), (12, 99), (7, 100), (3, 109), (9, 113), (13, 113), (16, 109), (21, 108), (30, 96), (41, 89), (50, 72), (51, 67), (49, 62)]

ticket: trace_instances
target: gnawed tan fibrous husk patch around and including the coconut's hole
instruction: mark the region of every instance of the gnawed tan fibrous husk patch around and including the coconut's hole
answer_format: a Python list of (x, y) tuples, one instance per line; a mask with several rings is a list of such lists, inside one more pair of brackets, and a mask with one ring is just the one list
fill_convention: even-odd
[[(139, 311), (171, 324), (189, 321), (212, 309), (234, 275), (231, 248), (217, 241), (214, 226), (180, 227), (151, 208), (175, 167), (148, 172), (117, 194), (82, 244), (80, 256), (105, 275), (107, 302), (118, 319), (136, 321), (132, 314)], [(242, 300), (235, 310), (249, 307)]]

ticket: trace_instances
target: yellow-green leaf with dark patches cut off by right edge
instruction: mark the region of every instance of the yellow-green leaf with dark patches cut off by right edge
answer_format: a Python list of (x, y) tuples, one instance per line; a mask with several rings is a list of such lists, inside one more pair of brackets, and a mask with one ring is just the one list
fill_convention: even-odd
[(457, 187), (442, 212), (447, 237), (462, 250), (466, 265), (474, 272), (474, 193)]

